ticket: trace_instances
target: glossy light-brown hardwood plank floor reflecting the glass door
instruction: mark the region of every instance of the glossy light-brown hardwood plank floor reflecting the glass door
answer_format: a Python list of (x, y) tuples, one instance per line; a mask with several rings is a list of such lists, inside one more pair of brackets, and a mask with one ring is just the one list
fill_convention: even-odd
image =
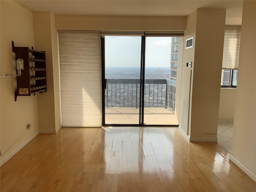
[(1, 192), (256, 192), (217, 143), (178, 128), (62, 128), (1, 168)]

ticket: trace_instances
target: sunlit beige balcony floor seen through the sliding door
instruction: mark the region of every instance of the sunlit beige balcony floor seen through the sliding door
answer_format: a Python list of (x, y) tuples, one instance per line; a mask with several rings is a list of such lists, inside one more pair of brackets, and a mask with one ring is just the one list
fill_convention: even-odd
[[(106, 124), (138, 124), (139, 108), (105, 108)], [(166, 108), (144, 108), (144, 124), (178, 125), (175, 113)]]

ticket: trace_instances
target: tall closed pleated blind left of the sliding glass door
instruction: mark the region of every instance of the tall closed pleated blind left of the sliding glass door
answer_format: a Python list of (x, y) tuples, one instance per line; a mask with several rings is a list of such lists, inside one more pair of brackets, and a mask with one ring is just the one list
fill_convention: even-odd
[(59, 32), (63, 127), (102, 125), (99, 33)]

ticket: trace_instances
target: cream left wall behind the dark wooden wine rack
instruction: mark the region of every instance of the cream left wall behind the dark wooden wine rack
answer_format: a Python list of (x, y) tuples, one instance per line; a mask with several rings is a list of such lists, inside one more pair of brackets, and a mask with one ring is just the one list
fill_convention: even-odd
[[(34, 46), (33, 13), (13, 1), (1, 3), (1, 64), (0, 74), (14, 74), (12, 41), (15, 46)], [(36, 96), (18, 96), (14, 102), (16, 80), (14, 76), (1, 78), (1, 165), (8, 160), (18, 148), (26, 144), (36, 134), (38, 128), (38, 102)], [(31, 129), (26, 131), (26, 124)], [(24, 135), (23, 135), (24, 134)], [(23, 136), (22, 136), (23, 135)], [(17, 142), (16, 142), (17, 141)], [(25, 143), (24, 143), (25, 142)], [(12, 146), (13, 145), (13, 146)], [(12, 146), (10, 148), (10, 146)], [(10, 148), (8, 150), (8, 148)]]

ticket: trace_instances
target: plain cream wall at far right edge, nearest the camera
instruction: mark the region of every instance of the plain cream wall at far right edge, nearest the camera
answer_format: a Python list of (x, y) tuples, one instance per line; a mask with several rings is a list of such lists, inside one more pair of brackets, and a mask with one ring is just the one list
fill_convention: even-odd
[(256, 1), (244, 1), (230, 160), (256, 181)]

